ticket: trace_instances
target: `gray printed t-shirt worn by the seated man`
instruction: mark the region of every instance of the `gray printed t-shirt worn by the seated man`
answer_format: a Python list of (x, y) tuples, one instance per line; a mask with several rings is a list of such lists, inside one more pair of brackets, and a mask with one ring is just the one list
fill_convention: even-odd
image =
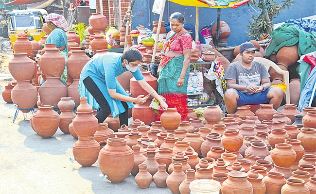
[[(261, 85), (261, 80), (270, 78), (270, 75), (262, 63), (253, 61), (250, 69), (243, 67), (240, 61), (231, 63), (225, 72), (224, 79), (235, 80), (239, 85)], [(241, 91), (246, 95), (251, 95), (253, 92), (249, 90)]]

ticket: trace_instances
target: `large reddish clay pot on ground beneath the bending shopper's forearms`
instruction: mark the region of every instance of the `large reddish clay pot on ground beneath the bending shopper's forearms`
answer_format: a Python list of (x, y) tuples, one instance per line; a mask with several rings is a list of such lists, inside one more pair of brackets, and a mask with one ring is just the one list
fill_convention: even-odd
[(132, 109), (133, 119), (140, 119), (146, 125), (150, 125), (156, 120), (156, 114), (149, 109), (151, 100), (146, 100), (145, 103), (136, 103)]

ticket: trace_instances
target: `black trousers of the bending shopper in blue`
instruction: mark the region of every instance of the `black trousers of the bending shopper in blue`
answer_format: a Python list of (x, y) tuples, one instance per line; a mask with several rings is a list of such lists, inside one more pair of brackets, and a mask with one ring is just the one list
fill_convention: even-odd
[[(101, 110), (96, 115), (96, 117), (98, 118), (99, 123), (103, 123), (106, 117), (111, 113), (110, 106), (108, 105), (107, 100), (103, 96), (98, 86), (90, 77), (87, 77), (83, 82), (89, 93), (94, 97), (101, 107)], [(125, 108), (125, 112), (120, 114), (120, 125), (125, 124), (128, 126), (128, 105), (126, 102), (122, 102), (122, 104)]]

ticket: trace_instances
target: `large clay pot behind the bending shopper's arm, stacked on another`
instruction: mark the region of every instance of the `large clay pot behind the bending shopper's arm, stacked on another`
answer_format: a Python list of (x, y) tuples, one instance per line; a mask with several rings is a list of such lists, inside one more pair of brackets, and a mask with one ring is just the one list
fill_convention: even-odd
[[(150, 71), (141, 71), (142, 76), (144, 77), (144, 80), (154, 88), (155, 91), (158, 90), (158, 81), (157, 78), (152, 76), (150, 74)], [(131, 78), (129, 82), (129, 89), (132, 93), (132, 97), (138, 97), (140, 95), (148, 95), (148, 93), (140, 87), (140, 84), (136, 81), (136, 79), (133, 77)], [(148, 99), (152, 99), (153, 97), (149, 97)]]

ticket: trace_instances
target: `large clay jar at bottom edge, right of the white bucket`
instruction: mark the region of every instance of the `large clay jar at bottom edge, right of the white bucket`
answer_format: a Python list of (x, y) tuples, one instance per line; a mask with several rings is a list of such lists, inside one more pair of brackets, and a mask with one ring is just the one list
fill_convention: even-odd
[(252, 194), (253, 189), (247, 180), (247, 174), (240, 171), (232, 171), (228, 173), (228, 179), (222, 184), (222, 194), (243, 193)]

